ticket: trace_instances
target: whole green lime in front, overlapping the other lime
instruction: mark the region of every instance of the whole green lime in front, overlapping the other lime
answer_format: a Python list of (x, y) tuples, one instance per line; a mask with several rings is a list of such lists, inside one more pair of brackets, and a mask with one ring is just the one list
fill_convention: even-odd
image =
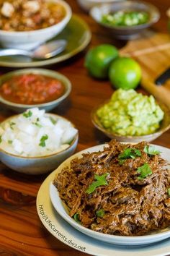
[(109, 67), (109, 80), (117, 89), (135, 89), (140, 82), (141, 75), (138, 62), (131, 58), (117, 58)]

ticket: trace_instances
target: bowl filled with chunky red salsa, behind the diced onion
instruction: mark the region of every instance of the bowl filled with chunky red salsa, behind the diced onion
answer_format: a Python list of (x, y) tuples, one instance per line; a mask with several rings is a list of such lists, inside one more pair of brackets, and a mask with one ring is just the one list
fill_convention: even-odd
[(71, 92), (71, 82), (49, 69), (20, 69), (0, 77), (0, 103), (13, 111), (58, 106)]

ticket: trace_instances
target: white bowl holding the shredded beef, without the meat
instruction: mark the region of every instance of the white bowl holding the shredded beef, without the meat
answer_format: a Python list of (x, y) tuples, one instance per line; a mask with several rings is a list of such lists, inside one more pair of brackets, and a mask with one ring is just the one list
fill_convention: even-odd
[[(61, 164), (61, 166), (59, 166), (55, 170), (55, 175), (58, 175), (63, 169), (63, 167), (70, 166), (70, 162), (73, 158), (77, 158), (77, 157), (81, 158), (83, 153), (91, 153), (91, 152), (97, 152), (99, 150), (103, 150), (104, 146), (105, 145), (97, 145), (95, 147), (88, 148), (79, 153), (76, 153), (75, 155), (72, 155), (71, 158), (68, 158), (66, 161), (64, 161)], [(166, 161), (170, 161), (170, 157), (169, 157), (170, 150), (168, 148), (164, 148), (158, 145), (155, 145), (155, 146), (156, 146), (156, 149), (161, 151), (161, 157), (164, 158)], [(53, 204), (53, 207), (65, 221), (67, 221), (75, 229), (81, 231), (87, 236), (91, 236), (94, 239), (98, 239), (102, 242), (107, 242), (110, 244), (119, 244), (124, 246), (151, 244), (153, 242), (158, 242), (170, 237), (170, 228), (157, 231), (153, 234), (143, 235), (143, 236), (115, 236), (110, 234), (103, 234), (97, 231), (93, 231), (91, 229), (86, 229), (84, 226), (81, 226), (81, 224), (74, 221), (73, 218), (68, 216), (68, 208), (61, 201), (59, 197), (58, 189), (56, 189), (56, 187), (53, 185), (52, 182), (53, 181), (51, 181), (51, 184), (50, 184), (50, 200)]]

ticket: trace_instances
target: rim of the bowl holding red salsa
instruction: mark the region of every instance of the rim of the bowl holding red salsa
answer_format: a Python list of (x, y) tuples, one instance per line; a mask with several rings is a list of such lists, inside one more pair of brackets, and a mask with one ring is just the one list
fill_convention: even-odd
[(16, 103), (16, 102), (8, 101), (5, 98), (3, 98), (0, 93), (0, 103), (5, 104), (6, 106), (13, 106), (13, 107), (17, 107), (17, 108), (34, 108), (34, 107), (41, 108), (41, 107), (53, 106), (53, 105), (55, 105), (55, 103), (59, 103), (59, 102), (63, 101), (71, 93), (72, 85), (71, 85), (70, 80), (68, 80), (68, 78), (65, 75), (63, 75), (59, 72), (50, 70), (50, 69), (42, 69), (42, 68), (17, 69), (12, 72), (3, 74), (0, 76), (0, 88), (4, 82), (8, 81), (12, 77), (17, 76), (19, 74), (42, 74), (47, 77), (53, 77), (56, 80), (59, 80), (62, 82), (62, 84), (65, 88), (65, 92), (59, 98), (56, 98), (53, 101), (48, 101), (45, 103), (37, 103), (37, 104), (36, 103), (35, 104), (24, 104), (24, 103)]

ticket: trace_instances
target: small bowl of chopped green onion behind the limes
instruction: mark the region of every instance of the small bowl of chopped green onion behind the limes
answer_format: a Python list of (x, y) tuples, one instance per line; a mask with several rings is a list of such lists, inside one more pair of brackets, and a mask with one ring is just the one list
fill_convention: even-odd
[(115, 1), (94, 6), (91, 17), (112, 32), (115, 38), (128, 40), (138, 38), (140, 32), (158, 21), (158, 9), (144, 1)]

